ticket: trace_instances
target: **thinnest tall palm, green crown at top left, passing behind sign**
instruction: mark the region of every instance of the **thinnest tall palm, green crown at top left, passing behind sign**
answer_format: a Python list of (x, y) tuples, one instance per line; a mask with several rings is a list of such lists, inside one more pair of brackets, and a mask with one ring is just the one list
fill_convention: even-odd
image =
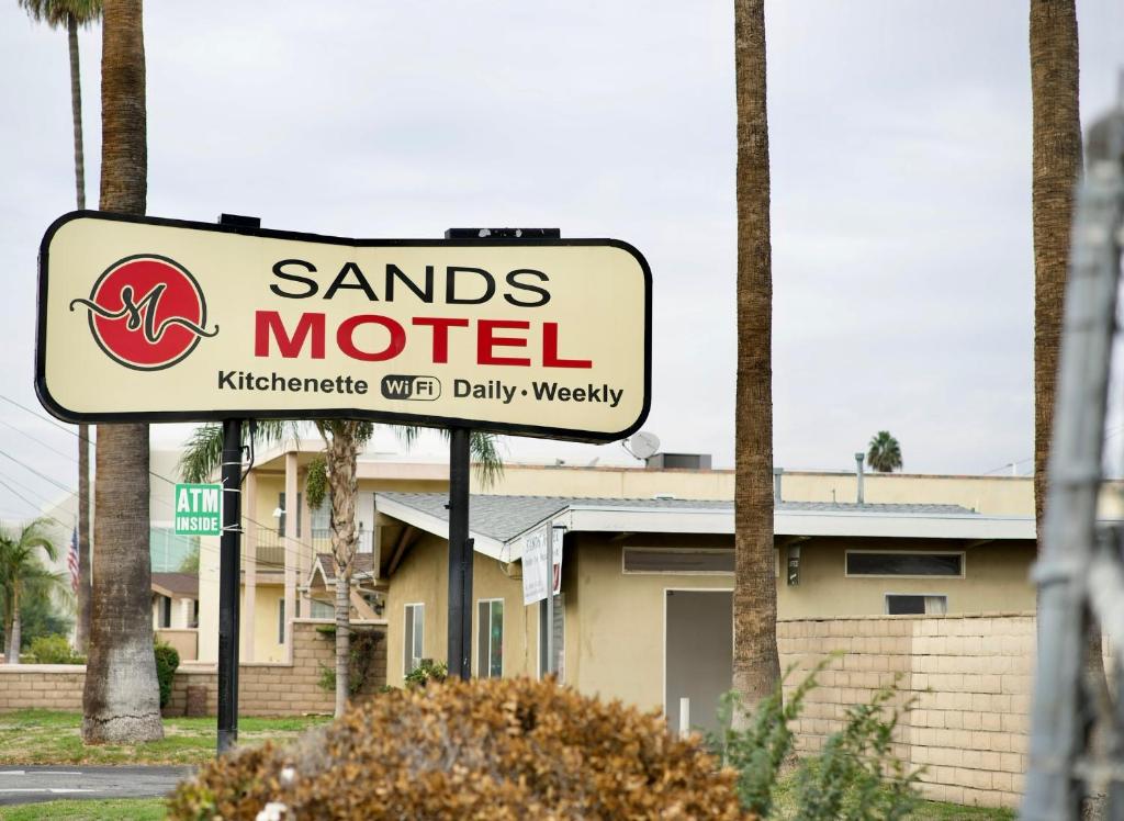
[[(18, 0), (37, 21), (66, 27), (71, 67), (71, 114), (74, 119), (74, 193), (79, 210), (85, 208), (85, 152), (82, 147), (82, 74), (79, 69), (78, 28), (101, 17), (101, 0)], [(90, 426), (78, 426), (78, 621), (74, 647), (85, 652), (90, 638)]]

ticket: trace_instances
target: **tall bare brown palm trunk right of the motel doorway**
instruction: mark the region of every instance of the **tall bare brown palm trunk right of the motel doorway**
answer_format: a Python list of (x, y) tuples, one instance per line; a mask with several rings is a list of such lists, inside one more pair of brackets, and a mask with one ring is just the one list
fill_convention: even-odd
[(772, 497), (772, 249), (764, 0), (735, 0), (737, 404), (734, 689), (747, 714), (780, 680)]

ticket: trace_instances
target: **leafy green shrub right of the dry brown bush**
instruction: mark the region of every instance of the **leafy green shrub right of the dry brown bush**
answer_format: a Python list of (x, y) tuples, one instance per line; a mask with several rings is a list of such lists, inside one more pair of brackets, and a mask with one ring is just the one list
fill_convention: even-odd
[[(737, 770), (742, 805), (761, 817), (774, 815), (781, 766), (790, 758), (795, 736), (789, 722), (804, 707), (816, 676), (832, 661), (825, 659), (790, 694), (780, 687), (758, 706), (744, 730), (733, 729), (737, 694), (728, 693), (719, 711), (723, 730), (708, 743), (723, 764)], [(791, 669), (789, 669), (791, 673)], [(787, 677), (788, 674), (786, 674)], [(897, 821), (921, 802), (917, 782), (922, 769), (892, 751), (894, 731), (913, 700), (894, 704), (897, 684), (882, 687), (867, 704), (847, 707), (843, 727), (824, 742), (823, 750), (803, 758), (796, 768), (794, 818), (800, 821)]]

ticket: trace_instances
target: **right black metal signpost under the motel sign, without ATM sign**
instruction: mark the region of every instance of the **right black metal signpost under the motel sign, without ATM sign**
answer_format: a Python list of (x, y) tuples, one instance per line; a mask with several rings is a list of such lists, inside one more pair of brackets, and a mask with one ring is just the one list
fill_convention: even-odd
[(450, 428), (448, 675), (472, 676), (472, 544), (469, 540), (469, 436)]

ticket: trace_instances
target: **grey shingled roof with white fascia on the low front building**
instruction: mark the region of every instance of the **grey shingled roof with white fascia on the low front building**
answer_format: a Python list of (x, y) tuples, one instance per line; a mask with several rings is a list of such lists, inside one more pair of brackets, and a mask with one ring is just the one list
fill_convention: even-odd
[[(448, 538), (445, 494), (380, 493), (379, 512)], [(504, 560), (523, 554), (523, 538), (551, 522), (571, 531), (631, 533), (734, 532), (732, 500), (613, 499), (558, 496), (471, 498), (469, 531), (479, 552)], [(915, 539), (1034, 539), (1034, 520), (984, 516), (960, 505), (781, 502), (773, 511), (777, 535), (889, 536)]]

